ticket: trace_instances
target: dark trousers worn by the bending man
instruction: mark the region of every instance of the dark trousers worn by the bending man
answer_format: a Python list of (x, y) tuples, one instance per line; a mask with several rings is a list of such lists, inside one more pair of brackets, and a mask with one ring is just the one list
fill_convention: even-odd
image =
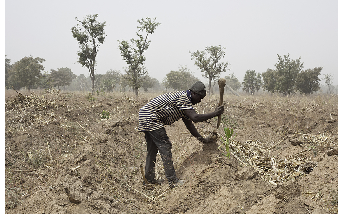
[(145, 140), (147, 141), (148, 155), (145, 164), (145, 178), (151, 182), (155, 179), (155, 162), (157, 152), (159, 151), (162, 158), (165, 176), (169, 183), (176, 179), (175, 168), (172, 162), (171, 141), (165, 131), (165, 128), (159, 128), (153, 131), (144, 131)]

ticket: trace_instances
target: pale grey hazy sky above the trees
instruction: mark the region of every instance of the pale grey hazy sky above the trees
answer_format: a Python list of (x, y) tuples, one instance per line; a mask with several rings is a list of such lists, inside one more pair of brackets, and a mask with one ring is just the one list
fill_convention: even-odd
[[(98, 14), (106, 21), (105, 42), (97, 57), (97, 74), (115, 69), (124, 73), (117, 40), (137, 38), (137, 19), (157, 18), (161, 24), (150, 35), (145, 52), (151, 77), (162, 82), (171, 70), (187, 66), (203, 82), (207, 79), (191, 60), (189, 51), (225, 47), (230, 65), (221, 77), (234, 73), (243, 81), (245, 71), (275, 69), (277, 54), (301, 57), (304, 68), (323, 67), (337, 85), (338, 5), (336, 0), (221, 0), (221, 1), (88, 1), (7, 0), (5, 54), (11, 64), (25, 56), (41, 57), (45, 71), (63, 67), (89, 75), (77, 63), (79, 44), (72, 37), (75, 17)], [(144, 34), (143, 34), (144, 35)], [(321, 80), (321, 84), (324, 81)]]

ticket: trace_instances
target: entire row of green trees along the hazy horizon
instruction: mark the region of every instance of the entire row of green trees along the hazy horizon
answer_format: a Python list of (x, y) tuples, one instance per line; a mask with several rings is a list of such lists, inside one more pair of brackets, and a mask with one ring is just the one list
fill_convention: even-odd
[[(97, 21), (97, 18), (98, 14), (88, 15), (83, 20), (75, 18), (78, 24), (71, 29), (72, 35), (80, 47), (78, 63), (88, 69), (88, 77), (84, 74), (77, 76), (67, 67), (51, 69), (51, 72), (47, 73), (42, 65), (45, 59), (40, 57), (23, 57), (14, 64), (11, 64), (11, 60), (6, 58), (5, 87), (16, 90), (49, 87), (57, 89), (64, 87), (66, 89), (68, 87), (74, 90), (91, 90), (92, 94), (96, 89), (97, 91), (116, 91), (117, 89), (125, 91), (128, 88), (128, 90), (133, 90), (135, 96), (138, 96), (138, 91), (141, 88), (147, 92), (151, 88), (160, 88), (162, 85), (166, 90), (187, 90), (195, 81), (199, 80), (186, 66), (181, 66), (177, 71), (171, 70), (162, 83), (149, 76), (145, 68), (146, 57), (143, 54), (150, 46), (150, 35), (160, 25), (156, 22), (156, 18), (137, 20), (137, 38), (130, 39), (130, 42), (118, 40), (118, 48), (127, 65), (123, 68), (125, 73), (109, 70), (105, 74), (95, 74), (98, 49), (105, 41), (106, 36), (104, 31), (106, 22), (101, 23)], [(227, 71), (229, 64), (222, 61), (225, 49), (219, 45), (205, 47), (203, 51), (189, 51), (194, 64), (202, 72), (202, 77), (208, 79), (208, 95), (213, 93), (212, 89), (221, 73)], [(238, 81), (234, 73), (230, 73), (225, 76), (226, 84), (235, 91), (243, 86), (242, 90), (250, 95), (258, 92), (260, 88), (283, 95), (290, 95), (297, 91), (311, 94), (320, 89), (319, 76), (323, 67), (302, 70), (301, 57), (290, 59), (289, 54), (283, 57), (277, 55), (277, 57), (278, 62), (275, 64), (275, 69), (267, 69), (263, 73), (247, 70), (242, 82)], [(333, 76), (330, 74), (324, 75), (323, 78), (329, 93), (331, 93), (332, 79)], [(213, 84), (212, 87), (211, 84)]]

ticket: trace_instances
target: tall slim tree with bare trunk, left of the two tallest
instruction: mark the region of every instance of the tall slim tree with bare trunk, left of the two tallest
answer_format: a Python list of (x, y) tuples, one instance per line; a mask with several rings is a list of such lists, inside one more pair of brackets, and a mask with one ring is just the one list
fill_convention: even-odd
[(98, 14), (87, 15), (83, 21), (75, 18), (79, 22), (71, 31), (73, 37), (79, 43), (81, 51), (78, 51), (78, 63), (86, 67), (90, 73), (92, 81), (92, 95), (95, 94), (95, 66), (98, 49), (105, 40), (104, 27), (106, 22), (97, 21)]

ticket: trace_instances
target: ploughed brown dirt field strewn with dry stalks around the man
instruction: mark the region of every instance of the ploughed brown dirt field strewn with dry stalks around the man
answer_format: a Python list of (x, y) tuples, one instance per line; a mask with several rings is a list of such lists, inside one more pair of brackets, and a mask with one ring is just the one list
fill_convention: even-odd
[[(338, 213), (337, 95), (225, 94), (220, 128), (217, 118), (195, 124), (203, 136), (217, 130), (217, 144), (181, 120), (166, 126), (185, 181), (175, 189), (142, 185), (138, 111), (156, 95), (7, 91), (5, 213)], [(217, 103), (212, 95), (194, 107)], [(224, 127), (234, 130), (229, 157), (217, 148)], [(158, 178), (162, 165), (158, 156)]]

